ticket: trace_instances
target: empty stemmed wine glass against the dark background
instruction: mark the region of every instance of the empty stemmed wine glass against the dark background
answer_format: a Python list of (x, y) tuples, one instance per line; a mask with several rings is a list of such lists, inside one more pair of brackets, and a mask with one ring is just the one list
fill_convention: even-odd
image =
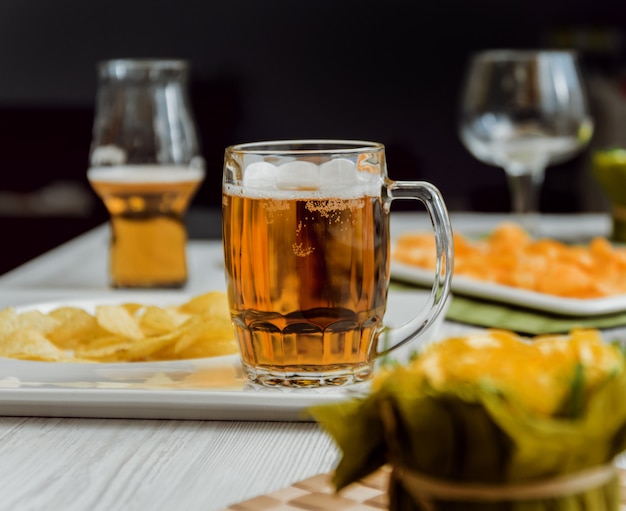
[(576, 54), (488, 50), (473, 55), (459, 130), (476, 158), (505, 170), (513, 213), (537, 235), (546, 167), (572, 158), (593, 133)]

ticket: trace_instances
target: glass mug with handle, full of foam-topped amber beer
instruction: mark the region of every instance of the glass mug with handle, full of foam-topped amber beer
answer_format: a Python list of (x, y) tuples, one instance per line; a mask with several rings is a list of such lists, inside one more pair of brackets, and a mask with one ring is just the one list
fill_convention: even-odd
[[(413, 320), (387, 328), (389, 211), (396, 198), (430, 215), (437, 267)], [(320, 387), (363, 382), (374, 361), (437, 318), (452, 277), (452, 234), (438, 190), (391, 181), (382, 144), (275, 141), (226, 149), (223, 244), (231, 318), (248, 381)]]

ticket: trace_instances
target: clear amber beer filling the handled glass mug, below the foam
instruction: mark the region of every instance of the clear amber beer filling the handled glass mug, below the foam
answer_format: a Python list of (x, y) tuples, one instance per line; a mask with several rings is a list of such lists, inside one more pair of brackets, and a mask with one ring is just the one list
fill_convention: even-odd
[(223, 214), (231, 314), (248, 378), (293, 386), (367, 379), (388, 285), (389, 218), (380, 197), (255, 196), (226, 186)]

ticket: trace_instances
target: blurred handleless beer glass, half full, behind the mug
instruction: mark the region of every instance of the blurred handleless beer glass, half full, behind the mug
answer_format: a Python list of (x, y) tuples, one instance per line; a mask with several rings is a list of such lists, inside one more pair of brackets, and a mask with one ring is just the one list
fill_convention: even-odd
[(184, 214), (204, 179), (187, 74), (181, 60), (98, 66), (87, 177), (110, 215), (113, 287), (187, 282)]

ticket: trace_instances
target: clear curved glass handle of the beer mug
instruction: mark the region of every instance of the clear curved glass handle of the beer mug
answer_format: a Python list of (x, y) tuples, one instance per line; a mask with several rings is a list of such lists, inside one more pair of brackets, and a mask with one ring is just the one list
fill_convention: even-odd
[[(430, 222), (435, 233), (435, 245), (437, 248), (437, 266), (435, 279), (426, 306), (417, 315), (398, 327), (385, 327), (391, 340), (391, 345), (377, 351), (374, 358), (389, 354), (404, 346), (409, 341), (428, 329), (439, 314), (450, 294), (452, 270), (454, 267), (454, 241), (452, 238), (452, 226), (446, 205), (441, 193), (432, 184), (425, 181), (391, 181), (384, 185), (387, 193), (386, 202), (390, 204), (395, 199), (416, 199), (426, 207)], [(380, 339), (380, 337), (379, 337)]]

